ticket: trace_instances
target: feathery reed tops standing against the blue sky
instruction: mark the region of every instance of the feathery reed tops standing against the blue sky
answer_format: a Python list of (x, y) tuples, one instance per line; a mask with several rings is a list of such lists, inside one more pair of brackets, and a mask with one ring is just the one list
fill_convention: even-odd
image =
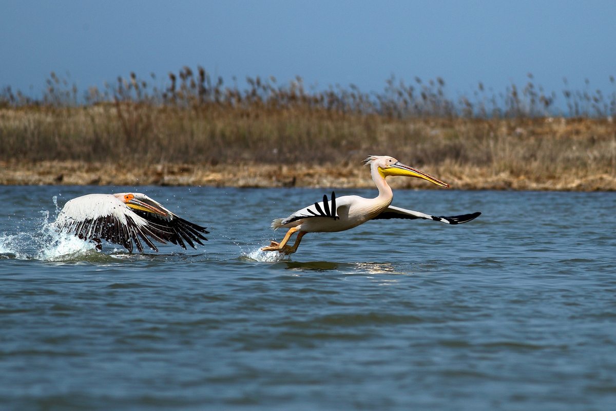
[[(169, 92), (176, 93), (176, 87), (179, 86), (188, 94), (190, 92), (198, 94), (200, 99), (208, 95), (208, 90), (217, 96), (230, 93), (248, 96), (250, 93), (253, 96), (259, 94), (264, 99), (269, 99), (272, 93), (279, 94), (295, 89), (302, 96), (322, 98), (323, 94), (330, 96), (335, 94), (342, 99), (347, 97), (356, 99), (357, 97), (362, 99), (362, 104), (368, 102), (373, 106), (372, 108), (377, 105), (383, 108), (385, 105), (415, 104), (416, 106), (431, 105), (431, 110), (440, 105), (442, 107), (436, 108), (439, 113), (442, 113), (442, 108), (448, 105), (449, 107), (445, 107), (448, 112), (459, 113), (470, 110), (475, 113), (479, 110), (483, 111), (484, 115), (487, 112), (496, 113), (503, 112), (503, 110), (511, 112), (512, 108), (516, 112), (522, 110), (524, 115), (531, 116), (607, 117), (616, 114), (616, 81), (613, 75), (608, 76), (612, 91), (605, 93), (601, 89), (592, 90), (588, 78), (585, 79), (585, 86), (582, 90), (569, 88), (569, 81), (565, 77), (562, 78), (564, 88), (561, 92), (546, 91), (541, 84), (533, 83), (535, 78), (532, 73), (526, 74), (527, 81), (522, 86), (511, 79), (511, 83), (505, 86), (504, 91), (495, 91), (492, 86), (485, 86), (482, 81), (477, 81), (474, 89), (471, 87), (468, 92), (456, 91), (455, 93), (452, 93), (442, 76), (435, 76), (434, 79), (427, 81), (423, 81), (419, 76), (413, 76), (413, 79), (407, 83), (393, 73), (384, 80), (385, 85), (381, 92), (365, 92), (354, 83), (349, 83), (347, 86), (336, 83), (318, 87), (318, 82), (306, 84), (304, 78), (299, 75), (280, 83), (274, 76), (246, 76), (244, 85), (240, 86), (241, 80), (237, 76), (231, 76), (232, 83), (225, 84), (222, 75), (211, 76), (209, 71), (201, 65), (197, 65), (197, 70), (194, 71), (184, 65), (177, 73), (169, 71), (166, 76), (157, 76), (150, 72), (148, 81), (131, 71), (128, 78), (118, 76), (115, 81), (103, 81), (102, 94), (99, 86), (96, 85), (86, 86), (85, 89), (79, 91), (77, 83), (71, 82), (70, 77), (68, 70), (66, 77), (59, 77), (51, 71), (49, 78), (44, 81), (44, 88), (33, 91), (33, 86), (30, 86), (30, 95), (25, 94), (21, 89), (14, 90), (10, 85), (3, 86), (0, 89), (0, 105), (49, 104), (51, 101), (59, 104), (61, 100), (64, 105), (87, 105), (88, 100), (97, 102), (113, 100), (112, 97), (118, 91), (118, 87), (128, 94), (137, 92), (138, 95), (132, 96), (131, 99), (140, 99), (144, 94), (145, 97), (161, 102), (166, 99), (165, 96)], [(569, 114), (565, 114), (565, 111)]]

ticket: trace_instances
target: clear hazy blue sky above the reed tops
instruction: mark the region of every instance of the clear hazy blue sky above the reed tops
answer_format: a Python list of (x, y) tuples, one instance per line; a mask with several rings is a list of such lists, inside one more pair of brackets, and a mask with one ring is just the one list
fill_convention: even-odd
[(613, 89), (616, 1), (3, 1), (0, 55), (0, 87), (25, 92), (52, 70), (84, 90), (202, 65), (226, 84), (299, 75), (363, 91), (441, 76), (452, 95), (531, 72), (560, 97), (564, 76)]

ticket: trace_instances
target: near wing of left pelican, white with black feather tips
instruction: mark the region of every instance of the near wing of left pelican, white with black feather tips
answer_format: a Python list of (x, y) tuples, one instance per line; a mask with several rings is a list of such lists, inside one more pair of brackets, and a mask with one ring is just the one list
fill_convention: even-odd
[(129, 253), (132, 253), (132, 242), (143, 253), (140, 239), (152, 250), (158, 251), (148, 236), (166, 244), (165, 238), (172, 234), (167, 227), (138, 216), (110, 194), (89, 194), (73, 198), (60, 211), (55, 226), (84, 240), (104, 238), (123, 246)]

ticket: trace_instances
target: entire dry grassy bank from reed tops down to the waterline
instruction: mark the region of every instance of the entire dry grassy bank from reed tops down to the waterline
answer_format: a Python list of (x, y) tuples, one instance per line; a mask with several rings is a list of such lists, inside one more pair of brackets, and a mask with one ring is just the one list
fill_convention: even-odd
[(564, 93), (571, 117), (532, 83), (499, 104), (448, 100), (440, 79), (382, 95), (179, 79), (158, 90), (132, 75), (83, 101), (55, 76), (38, 101), (5, 90), (0, 184), (365, 187), (360, 161), (388, 154), (457, 188), (616, 190), (616, 97), (600, 92)]

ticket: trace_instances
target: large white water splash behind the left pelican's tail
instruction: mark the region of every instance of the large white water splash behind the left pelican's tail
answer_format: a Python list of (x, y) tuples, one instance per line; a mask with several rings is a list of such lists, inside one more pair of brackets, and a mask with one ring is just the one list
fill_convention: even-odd
[[(53, 197), (55, 216), (60, 211), (57, 197)], [(73, 234), (58, 232), (49, 222), (49, 211), (41, 211), (42, 217), (23, 221), (17, 234), (0, 234), (0, 254), (16, 259), (41, 261), (79, 261), (97, 254), (94, 243), (79, 240)]]

